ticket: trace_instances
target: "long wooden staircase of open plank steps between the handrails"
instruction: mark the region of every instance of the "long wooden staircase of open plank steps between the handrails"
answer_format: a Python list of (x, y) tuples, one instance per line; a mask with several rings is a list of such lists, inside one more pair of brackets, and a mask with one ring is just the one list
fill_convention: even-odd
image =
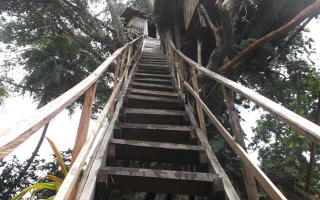
[(185, 109), (159, 40), (145, 38), (129, 78), (107, 145), (106, 166), (98, 170), (95, 198), (126, 190), (224, 199), (222, 178), (208, 172), (205, 148), (190, 120), (194, 116)]

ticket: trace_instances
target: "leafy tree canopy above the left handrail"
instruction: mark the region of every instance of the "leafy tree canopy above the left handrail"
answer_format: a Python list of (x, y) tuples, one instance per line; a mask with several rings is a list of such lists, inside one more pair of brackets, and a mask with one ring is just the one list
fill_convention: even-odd
[[(25, 71), (19, 83), (24, 87), (18, 90), (31, 92), (39, 107), (86, 77), (117, 48), (110, 19), (92, 13), (86, 0), (4, 1), (0, 13), (0, 41), (17, 55), (6, 58), (1, 68)], [(0, 78), (7, 79), (5, 74)], [(93, 112), (102, 106), (111, 81), (108, 71), (99, 79)], [(70, 113), (82, 102), (83, 96), (69, 106)]]

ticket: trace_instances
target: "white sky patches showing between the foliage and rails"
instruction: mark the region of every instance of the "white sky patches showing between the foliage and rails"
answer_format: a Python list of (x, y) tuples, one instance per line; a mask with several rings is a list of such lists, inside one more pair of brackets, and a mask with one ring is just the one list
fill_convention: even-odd
[[(314, 47), (318, 52), (320, 52), (320, 37), (318, 36), (318, 33), (320, 32), (319, 23), (317, 23), (317, 20), (313, 19), (308, 25), (308, 28), (310, 29), (310, 32), (306, 33), (306, 35), (314, 39)], [(312, 58), (316, 62), (317, 66), (320, 65), (319, 55), (319, 53), (312, 55)], [(0, 53), (0, 61), (4, 56), (7, 55), (3, 52)], [(14, 71), (13, 75), (14, 77), (16, 77), (17, 82), (21, 80), (22, 76), (19, 71)], [(33, 102), (30, 96), (15, 95), (16, 94), (11, 93), (10, 97), (5, 100), (4, 109), (0, 108), (0, 132), (12, 126), (19, 119), (27, 117), (32, 111), (35, 110), (37, 103)], [(253, 136), (251, 127), (256, 125), (255, 121), (258, 119), (262, 112), (259, 110), (251, 111), (249, 109), (240, 109), (240, 111), (241, 117), (245, 120), (241, 122), (242, 128), (247, 134), (247, 138), (249, 138), (250, 140), (250, 138)], [(74, 114), (71, 117), (69, 117), (68, 112), (64, 110), (50, 122), (46, 136), (49, 137), (53, 142), (55, 142), (57, 148), (60, 151), (73, 147), (79, 117), (79, 108), (75, 110)], [(91, 125), (92, 121), (90, 123), (90, 126)], [(25, 142), (23, 142), (22, 145), (17, 147), (5, 159), (10, 158), (10, 155), (13, 154), (16, 154), (19, 159), (28, 158), (36, 146), (36, 143), (41, 134), (41, 130), (42, 128)], [(246, 143), (248, 143), (248, 141), (246, 141)], [(38, 154), (40, 155), (40, 158), (46, 159), (48, 159), (49, 154), (52, 154), (51, 148), (46, 139), (43, 141)], [(257, 152), (249, 151), (249, 154), (251, 158), (256, 161)]]

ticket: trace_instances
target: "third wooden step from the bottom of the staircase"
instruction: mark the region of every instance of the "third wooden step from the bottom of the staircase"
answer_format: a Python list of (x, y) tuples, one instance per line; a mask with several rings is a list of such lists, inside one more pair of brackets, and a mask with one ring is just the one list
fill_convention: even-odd
[(113, 137), (117, 139), (197, 144), (195, 128), (183, 125), (121, 123), (116, 121)]

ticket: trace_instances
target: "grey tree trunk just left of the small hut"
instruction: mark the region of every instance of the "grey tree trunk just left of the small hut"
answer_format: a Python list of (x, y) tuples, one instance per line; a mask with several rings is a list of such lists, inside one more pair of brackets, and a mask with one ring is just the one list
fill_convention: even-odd
[(116, 4), (115, 4), (114, 0), (107, 0), (107, 3), (109, 5), (111, 20), (112, 20), (113, 28), (116, 33), (116, 38), (118, 40), (118, 44), (119, 44), (119, 46), (122, 46), (125, 42), (127, 42), (127, 38), (124, 33), (124, 27), (123, 27), (122, 22), (120, 20), (120, 16), (118, 14)]

